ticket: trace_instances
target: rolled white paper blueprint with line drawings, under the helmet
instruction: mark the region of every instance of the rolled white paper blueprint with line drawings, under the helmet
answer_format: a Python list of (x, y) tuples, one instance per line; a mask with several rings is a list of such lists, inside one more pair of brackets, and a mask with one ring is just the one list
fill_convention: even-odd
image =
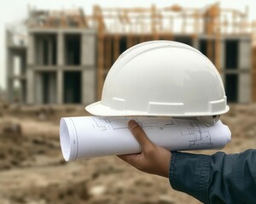
[(72, 161), (141, 152), (128, 128), (131, 119), (143, 127), (154, 144), (167, 150), (221, 149), (231, 139), (229, 127), (221, 121), (207, 127), (197, 120), (168, 117), (63, 117), (60, 140), (64, 159)]

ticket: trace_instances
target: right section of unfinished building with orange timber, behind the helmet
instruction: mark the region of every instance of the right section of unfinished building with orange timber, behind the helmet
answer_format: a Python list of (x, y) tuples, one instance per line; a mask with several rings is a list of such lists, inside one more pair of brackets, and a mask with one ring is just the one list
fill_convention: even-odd
[[(98, 96), (113, 61), (126, 48), (148, 40), (187, 43), (207, 55), (220, 72), (229, 102), (255, 102), (252, 33), (244, 12), (219, 8), (100, 8), (98, 19)], [(110, 51), (110, 52), (109, 52)], [(254, 68), (255, 70), (255, 68)], [(253, 86), (254, 84), (254, 86)]]

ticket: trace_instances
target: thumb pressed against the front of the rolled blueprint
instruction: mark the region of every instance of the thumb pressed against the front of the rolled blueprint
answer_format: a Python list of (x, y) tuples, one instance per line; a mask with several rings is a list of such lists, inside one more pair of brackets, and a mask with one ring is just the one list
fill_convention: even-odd
[(131, 120), (128, 122), (128, 126), (131, 130), (131, 133), (137, 139), (137, 142), (141, 145), (143, 150), (153, 145), (150, 139), (148, 139), (148, 136), (144, 132), (143, 128), (136, 121)]

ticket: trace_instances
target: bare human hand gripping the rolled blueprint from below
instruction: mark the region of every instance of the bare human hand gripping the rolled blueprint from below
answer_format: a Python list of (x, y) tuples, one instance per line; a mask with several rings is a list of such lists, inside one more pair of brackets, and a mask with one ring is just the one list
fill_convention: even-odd
[(171, 152), (151, 142), (143, 128), (134, 120), (128, 122), (128, 127), (141, 145), (142, 153), (122, 155), (119, 158), (145, 173), (168, 178)]

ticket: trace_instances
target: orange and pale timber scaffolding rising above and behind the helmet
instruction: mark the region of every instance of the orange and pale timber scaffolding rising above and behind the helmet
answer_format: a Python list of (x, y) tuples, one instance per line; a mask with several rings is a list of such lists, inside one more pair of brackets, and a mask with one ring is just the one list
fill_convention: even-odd
[(102, 94), (104, 79), (114, 60), (122, 51), (138, 42), (166, 39), (195, 46), (193, 42), (198, 37), (205, 36), (204, 54), (221, 72), (221, 38), (247, 35), (256, 29), (256, 23), (249, 22), (247, 14), (248, 8), (242, 12), (220, 8), (218, 3), (205, 8), (183, 8), (177, 4), (166, 8), (157, 8), (155, 5), (149, 8), (95, 6), (93, 18), (96, 20), (98, 33), (98, 98)]

